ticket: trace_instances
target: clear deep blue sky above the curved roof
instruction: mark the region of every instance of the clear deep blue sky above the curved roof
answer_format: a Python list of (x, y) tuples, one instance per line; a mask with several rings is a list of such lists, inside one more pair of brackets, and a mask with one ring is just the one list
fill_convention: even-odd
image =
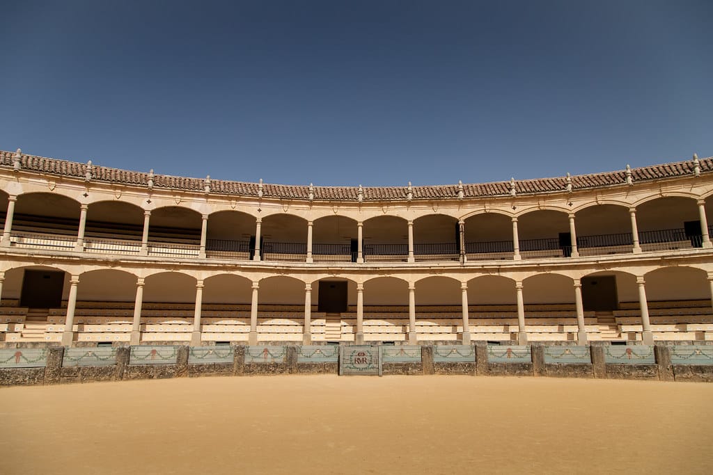
[(0, 1), (0, 149), (405, 185), (713, 155), (713, 2)]

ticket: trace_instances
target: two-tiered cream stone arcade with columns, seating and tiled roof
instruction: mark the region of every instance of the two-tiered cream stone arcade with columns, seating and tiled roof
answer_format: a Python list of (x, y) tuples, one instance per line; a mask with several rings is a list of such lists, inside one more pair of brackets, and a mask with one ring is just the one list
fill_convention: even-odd
[(438, 187), (0, 152), (7, 342), (713, 340), (713, 160)]

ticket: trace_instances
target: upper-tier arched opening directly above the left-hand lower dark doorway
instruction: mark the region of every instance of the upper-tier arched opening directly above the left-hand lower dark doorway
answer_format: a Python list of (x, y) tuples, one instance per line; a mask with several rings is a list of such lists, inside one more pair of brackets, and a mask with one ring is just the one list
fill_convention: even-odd
[(79, 203), (54, 193), (17, 197), (10, 233), (11, 246), (73, 250), (79, 232)]

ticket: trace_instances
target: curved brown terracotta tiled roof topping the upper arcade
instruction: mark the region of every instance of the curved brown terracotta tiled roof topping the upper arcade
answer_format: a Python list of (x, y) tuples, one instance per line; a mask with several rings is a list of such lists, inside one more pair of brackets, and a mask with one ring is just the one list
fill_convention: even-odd
[[(0, 151), (0, 165), (14, 167), (15, 152)], [(34, 170), (47, 174), (66, 177), (86, 178), (91, 172), (91, 180), (98, 182), (114, 182), (148, 186), (153, 181), (155, 188), (185, 189), (190, 191), (205, 190), (205, 179), (171, 177), (170, 175), (131, 172), (129, 170), (100, 167), (92, 165), (91, 170), (85, 163), (69, 162), (54, 158), (35, 157), (21, 154), (21, 169)], [(713, 157), (699, 160), (701, 173), (713, 171)], [(632, 168), (630, 175), (633, 182), (682, 177), (694, 174), (694, 161), (666, 163), (650, 167)], [(609, 187), (627, 183), (627, 171), (593, 173), (570, 177), (572, 189), (591, 189)], [(567, 177), (540, 178), (516, 180), (517, 194), (536, 194), (562, 192), (567, 189)], [(410, 187), (412, 199), (446, 199), (458, 197), (458, 185), (439, 185), (431, 187)], [(240, 196), (269, 198), (309, 199), (310, 187), (286, 184), (258, 184), (247, 182), (229, 182), (220, 179), (210, 179), (212, 194), (235, 194)], [(356, 201), (360, 192), (357, 187), (312, 187), (314, 199), (329, 201)], [(511, 182), (463, 184), (463, 197), (497, 197), (511, 194)], [(409, 187), (364, 187), (361, 189), (361, 199), (364, 202), (404, 200), (409, 198)]]

